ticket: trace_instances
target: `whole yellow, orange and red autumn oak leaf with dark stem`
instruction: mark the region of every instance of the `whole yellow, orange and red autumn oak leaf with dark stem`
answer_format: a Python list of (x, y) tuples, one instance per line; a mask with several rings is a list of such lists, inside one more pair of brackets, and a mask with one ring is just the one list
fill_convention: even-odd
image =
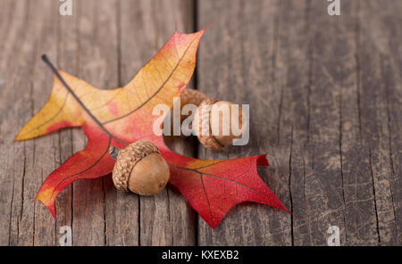
[(177, 31), (155, 57), (125, 87), (103, 90), (64, 72), (54, 71), (54, 87), (45, 106), (21, 129), (16, 140), (44, 136), (61, 128), (81, 127), (88, 145), (55, 169), (39, 189), (43, 202), (56, 218), (54, 201), (66, 186), (80, 178), (108, 175), (114, 160), (109, 148), (124, 148), (138, 140), (158, 145), (177, 186), (195, 210), (216, 227), (237, 203), (251, 201), (288, 211), (258, 177), (256, 166), (268, 165), (265, 156), (234, 160), (201, 161), (173, 153), (163, 136), (155, 136), (153, 115), (157, 104), (172, 107), (196, 67), (197, 47), (205, 30), (193, 34)]

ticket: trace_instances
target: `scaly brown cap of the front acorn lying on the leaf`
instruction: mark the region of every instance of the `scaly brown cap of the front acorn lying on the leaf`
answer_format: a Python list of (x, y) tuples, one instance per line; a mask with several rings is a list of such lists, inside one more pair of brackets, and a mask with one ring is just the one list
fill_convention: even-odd
[(158, 147), (147, 141), (128, 145), (119, 153), (113, 168), (113, 183), (118, 190), (129, 192), (129, 179), (134, 166), (147, 155), (158, 153)]

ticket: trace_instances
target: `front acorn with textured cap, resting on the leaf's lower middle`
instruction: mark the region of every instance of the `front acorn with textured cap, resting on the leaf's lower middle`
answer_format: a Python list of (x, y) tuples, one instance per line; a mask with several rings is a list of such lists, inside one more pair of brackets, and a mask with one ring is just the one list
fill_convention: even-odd
[[(116, 152), (116, 148), (112, 147), (110, 155), (115, 157)], [(169, 176), (169, 166), (152, 142), (138, 141), (117, 153), (113, 183), (121, 191), (158, 194), (166, 186)]]

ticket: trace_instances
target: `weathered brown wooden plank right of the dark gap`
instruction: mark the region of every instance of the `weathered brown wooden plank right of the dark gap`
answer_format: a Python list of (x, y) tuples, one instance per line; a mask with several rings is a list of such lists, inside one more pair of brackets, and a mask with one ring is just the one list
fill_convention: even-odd
[[(395, 109), (386, 101), (399, 98), (392, 75), (400, 56), (389, 59), (401, 41), (392, 27), (399, 5), (342, 3), (341, 16), (331, 17), (324, 2), (271, 1), (264, 8), (268, 2), (199, 4), (201, 27), (214, 27), (207, 51), (200, 50), (198, 88), (247, 100), (251, 109), (247, 146), (200, 148), (199, 157), (269, 153), (268, 186), (298, 218), (239, 207), (214, 231), (200, 220), (199, 243), (325, 245), (328, 227), (337, 226), (341, 244), (400, 244), (398, 151), (391, 149), (398, 139), (387, 131), (400, 119), (394, 113), (391, 121)], [(388, 81), (381, 86), (382, 79)], [(254, 215), (258, 210), (265, 211)]]

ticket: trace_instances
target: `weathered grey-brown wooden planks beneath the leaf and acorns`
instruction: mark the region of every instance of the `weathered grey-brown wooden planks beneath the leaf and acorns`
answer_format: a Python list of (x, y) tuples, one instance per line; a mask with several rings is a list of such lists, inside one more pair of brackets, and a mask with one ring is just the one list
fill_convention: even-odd
[[(0, 0), (0, 245), (402, 245), (402, 2), (324, 0)], [(22, 143), (14, 136), (52, 88), (40, 61), (96, 87), (121, 87), (175, 29), (206, 30), (192, 85), (250, 104), (250, 142), (222, 153), (166, 138), (200, 159), (268, 153), (259, 174), (297, 215), (245, 203), (215, 229), (172, 186), (121, 194), (111, 177), (80, 180), (56, 200), (38, 188), (86, 138), (67, 129)]]

